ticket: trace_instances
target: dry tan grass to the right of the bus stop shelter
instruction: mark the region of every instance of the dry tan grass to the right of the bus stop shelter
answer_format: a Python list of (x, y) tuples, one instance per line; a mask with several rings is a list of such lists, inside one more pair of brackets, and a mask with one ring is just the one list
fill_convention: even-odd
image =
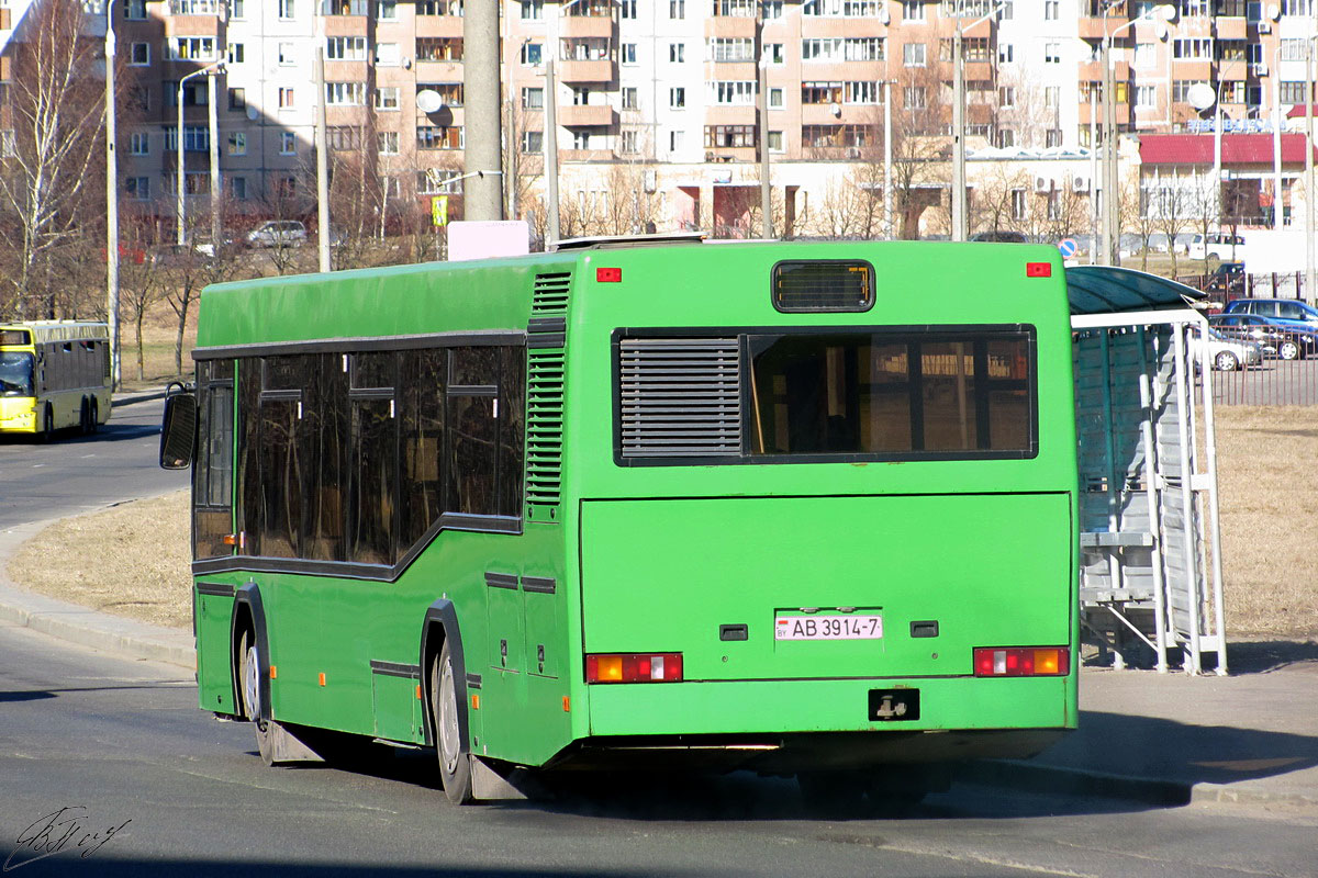
[(1219, 405), (1227, 631), (1318, 633), (1318, 407)]

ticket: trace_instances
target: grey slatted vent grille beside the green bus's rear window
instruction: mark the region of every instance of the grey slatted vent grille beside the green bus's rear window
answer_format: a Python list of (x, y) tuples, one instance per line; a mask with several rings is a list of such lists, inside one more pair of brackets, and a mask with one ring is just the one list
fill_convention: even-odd
[(625, 338), (619, 355), (623, 457), (741, 453), (735, 338)]

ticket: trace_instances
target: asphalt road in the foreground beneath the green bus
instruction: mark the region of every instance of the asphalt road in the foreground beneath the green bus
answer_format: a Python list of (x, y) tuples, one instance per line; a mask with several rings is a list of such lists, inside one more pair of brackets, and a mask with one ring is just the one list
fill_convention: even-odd
[(216, 721), (195, 699), (186, 671), (0, 625), (8, 869), (21, 878), (1318, 875), (1311, 821), (969, 785), (899, 820), (820, 819), (792, 782), (745, 774), (613, 778), (551, 802), (457, 808), (428, 753), (386, 752), (351, 770), (268, 769), (250, 727)]

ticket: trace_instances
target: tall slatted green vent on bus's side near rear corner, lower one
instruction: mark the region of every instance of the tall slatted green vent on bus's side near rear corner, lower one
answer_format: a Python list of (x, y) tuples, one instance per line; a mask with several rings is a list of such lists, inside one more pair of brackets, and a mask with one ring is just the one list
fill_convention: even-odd
[(563, 350), (529, 350), (526, 398), (527, 517), (550, 521), (563, 471)]

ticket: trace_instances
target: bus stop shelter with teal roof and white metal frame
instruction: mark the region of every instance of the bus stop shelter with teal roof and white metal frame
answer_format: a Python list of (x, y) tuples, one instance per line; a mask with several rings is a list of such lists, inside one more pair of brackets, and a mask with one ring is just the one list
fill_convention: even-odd
[[(1066, 269), (1081, 490), (1081, 625), (1115, 667), (1227, 673), (1213, 370), (1201, 294)], [(1211, 359), (1211, 358), (1210, 358)], [(1209, 661), (1205, 661), (1211, 656)]]

